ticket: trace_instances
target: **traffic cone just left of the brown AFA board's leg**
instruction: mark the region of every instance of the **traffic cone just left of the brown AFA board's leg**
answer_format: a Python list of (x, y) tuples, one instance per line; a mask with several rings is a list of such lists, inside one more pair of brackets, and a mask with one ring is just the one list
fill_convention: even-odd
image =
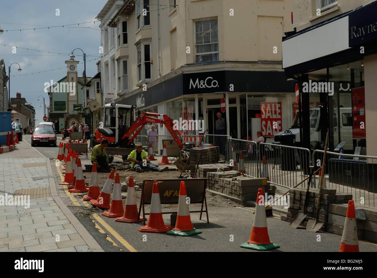
[(139, 216), (138, 206), (136, 205), (135, 186), (133, 185), (133, 176), (129, 177), (126, 207), (124, 208), (124, 214), (122, 217), (115, 218), (116, 222), (124, 223), (136, 223), (143, 220), (147, 220), (146, 217)]

